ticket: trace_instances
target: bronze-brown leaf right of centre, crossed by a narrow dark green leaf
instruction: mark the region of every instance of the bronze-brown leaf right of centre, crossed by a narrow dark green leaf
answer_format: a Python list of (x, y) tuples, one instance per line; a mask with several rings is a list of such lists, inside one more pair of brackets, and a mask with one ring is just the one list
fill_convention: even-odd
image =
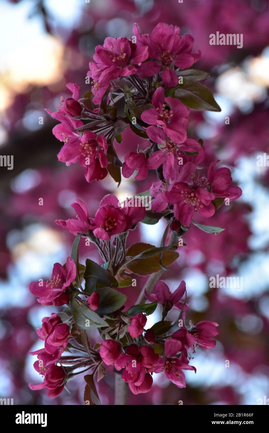
[[(149, 249), (156, 249), (155, 246), (151, 244), (146, 244), (139, 242), (131, 246), (127, 251), (127, 256), (134, 257), (135, 255), (140, 255)], [(173, 248), (173, 247), (172, 247)], [(151, 252), (149, 253), (151, 254)], [(177, 258), (179, 254), (174, 251), (165, 251), (161, 259), (162, 265), (165, 267), (171, 265)], [(141, 257), (141, 256), (140, 256)], [(136, 275), (150, 275), (155, 272), (161, 271), (161, 266), (159, 264), (160, 254), (156, 254), (150, 257), (144, 257), (142, 259), (133, 259), (128, 262), (125, 267)]]

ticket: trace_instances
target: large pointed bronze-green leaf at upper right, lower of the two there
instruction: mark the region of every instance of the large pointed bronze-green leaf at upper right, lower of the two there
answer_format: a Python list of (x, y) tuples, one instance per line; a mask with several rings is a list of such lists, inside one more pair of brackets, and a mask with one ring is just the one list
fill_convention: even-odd
[(174, 97), (194, 110), (221, 111), (211, 90), (200, 83), (184, 84), (175, 91)]

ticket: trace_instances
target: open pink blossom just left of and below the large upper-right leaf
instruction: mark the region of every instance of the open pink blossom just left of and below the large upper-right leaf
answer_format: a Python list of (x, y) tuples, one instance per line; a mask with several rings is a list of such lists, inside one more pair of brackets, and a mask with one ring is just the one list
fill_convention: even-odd
[(165, 135), (174, 143), (184, 143), (187, 139), (187, 127), (190, 110), (179, 100), (174, 102), (173, 109), (169, 109), (165, 103), (165, 89), (158, 87), (152, 96), (154, 108), (145, 110), (141, 114), (143, 122), (149, 126), (146, 131), (149, 137), (155, 141), (159, 139), (158, 128), (162, 128)]

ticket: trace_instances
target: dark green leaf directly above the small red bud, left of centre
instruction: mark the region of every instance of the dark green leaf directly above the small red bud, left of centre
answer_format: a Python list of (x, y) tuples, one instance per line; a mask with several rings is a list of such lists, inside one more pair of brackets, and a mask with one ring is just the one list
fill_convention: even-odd
[(86, 259), (84, 279), (85, 292), (88, 294), (92, 294), (101, 287), (118, 287), (116, 278), (91, 259)]

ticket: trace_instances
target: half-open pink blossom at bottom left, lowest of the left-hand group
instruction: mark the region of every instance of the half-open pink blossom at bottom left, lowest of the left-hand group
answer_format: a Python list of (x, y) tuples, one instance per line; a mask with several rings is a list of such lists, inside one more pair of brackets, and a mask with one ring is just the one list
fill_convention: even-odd
[(58, 365), (51, 365), (49, 367), (40, 367), (39, 362), (36, 361), (34, 364), (35, 370), (40, 375), (45, 375), (43, 383), (39, 385), (29, 384), (29, 388), (32, 390), (39, 390), (47, 388), (47, 396), (55, 398), (60, 395), (64, 388), (65, 372), (63, 367)]

